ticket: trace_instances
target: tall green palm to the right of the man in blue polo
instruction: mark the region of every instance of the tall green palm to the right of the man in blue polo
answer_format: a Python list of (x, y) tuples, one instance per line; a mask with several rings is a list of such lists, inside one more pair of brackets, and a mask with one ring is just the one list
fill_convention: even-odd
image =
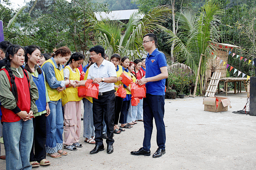
[[(200, 75), (206, 71), (206, 63), (212, 57), (215, 43), (219, 41), (219, 24), (221, 19), (221, 6), (213, 0), (206, 0), (201, 12), (197, 13), (184, 9), (177, 12), (182, 32), (175, 35), (171, 30), (163, 31), (169, 38), (167, 43), (171, 47), (172, 41), (176, 42), (175, 53), (180, 62), (184, 62), (195, 72), (196, 84), (193, 96), (196, 94), (197, 81)], [(202, 80), (200, 82), (200, 93), (202, 93)]]

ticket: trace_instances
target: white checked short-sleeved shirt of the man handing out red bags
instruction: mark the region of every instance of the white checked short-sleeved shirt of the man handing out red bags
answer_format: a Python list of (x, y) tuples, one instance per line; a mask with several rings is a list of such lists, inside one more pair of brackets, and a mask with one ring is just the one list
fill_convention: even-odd
[[(92, 64), (92, 66), (88, 70), (87, 79), (94, 78), (109, 78), (109, 77), (117, 77), (116, 76), (116, 67), (113, 63), (107, 60), (103, 60), (98, 67), (97, 63)], [(108, 92), (114, 90), (114, 83), (99, 83), (99, 92)]]

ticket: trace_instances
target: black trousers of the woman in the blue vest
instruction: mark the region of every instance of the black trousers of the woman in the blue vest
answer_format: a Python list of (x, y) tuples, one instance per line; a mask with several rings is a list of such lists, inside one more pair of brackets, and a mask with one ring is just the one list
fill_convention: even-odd
[[(30, 152), (29, 161), (37, 161), (40, 163), (41, 160), (45, 159), (46, 151), (45, 151), (45, 141), (46, 141), (46, 117), (45, 114), (41, 116), (36, 116), (33, 118), (33, 126), (34, 126), (34, 139), (32, 144), (32, 149)], [(35, 154), (34, 154), (35, 148)]]

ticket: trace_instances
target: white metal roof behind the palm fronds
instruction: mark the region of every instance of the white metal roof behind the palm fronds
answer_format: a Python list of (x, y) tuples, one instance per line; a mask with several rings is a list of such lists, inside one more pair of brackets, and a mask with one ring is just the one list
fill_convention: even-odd
[[(107, 12), (94, 12), (98, 20), (109, 19), (109, 20), (124, 20), (129, 19), (134, 12), (138, 12), (138, 9), (134, 10), (119, 10)], [(137, 15), (138, 18), (143, 18), (143, 14)]]

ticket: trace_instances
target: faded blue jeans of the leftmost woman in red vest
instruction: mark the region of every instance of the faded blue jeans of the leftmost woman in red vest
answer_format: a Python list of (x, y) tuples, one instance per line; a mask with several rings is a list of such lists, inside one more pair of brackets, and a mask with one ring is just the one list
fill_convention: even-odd
[(29, 155), (33, 143), (33, 121), (3, 122), (6, 170), (31, 170)]

